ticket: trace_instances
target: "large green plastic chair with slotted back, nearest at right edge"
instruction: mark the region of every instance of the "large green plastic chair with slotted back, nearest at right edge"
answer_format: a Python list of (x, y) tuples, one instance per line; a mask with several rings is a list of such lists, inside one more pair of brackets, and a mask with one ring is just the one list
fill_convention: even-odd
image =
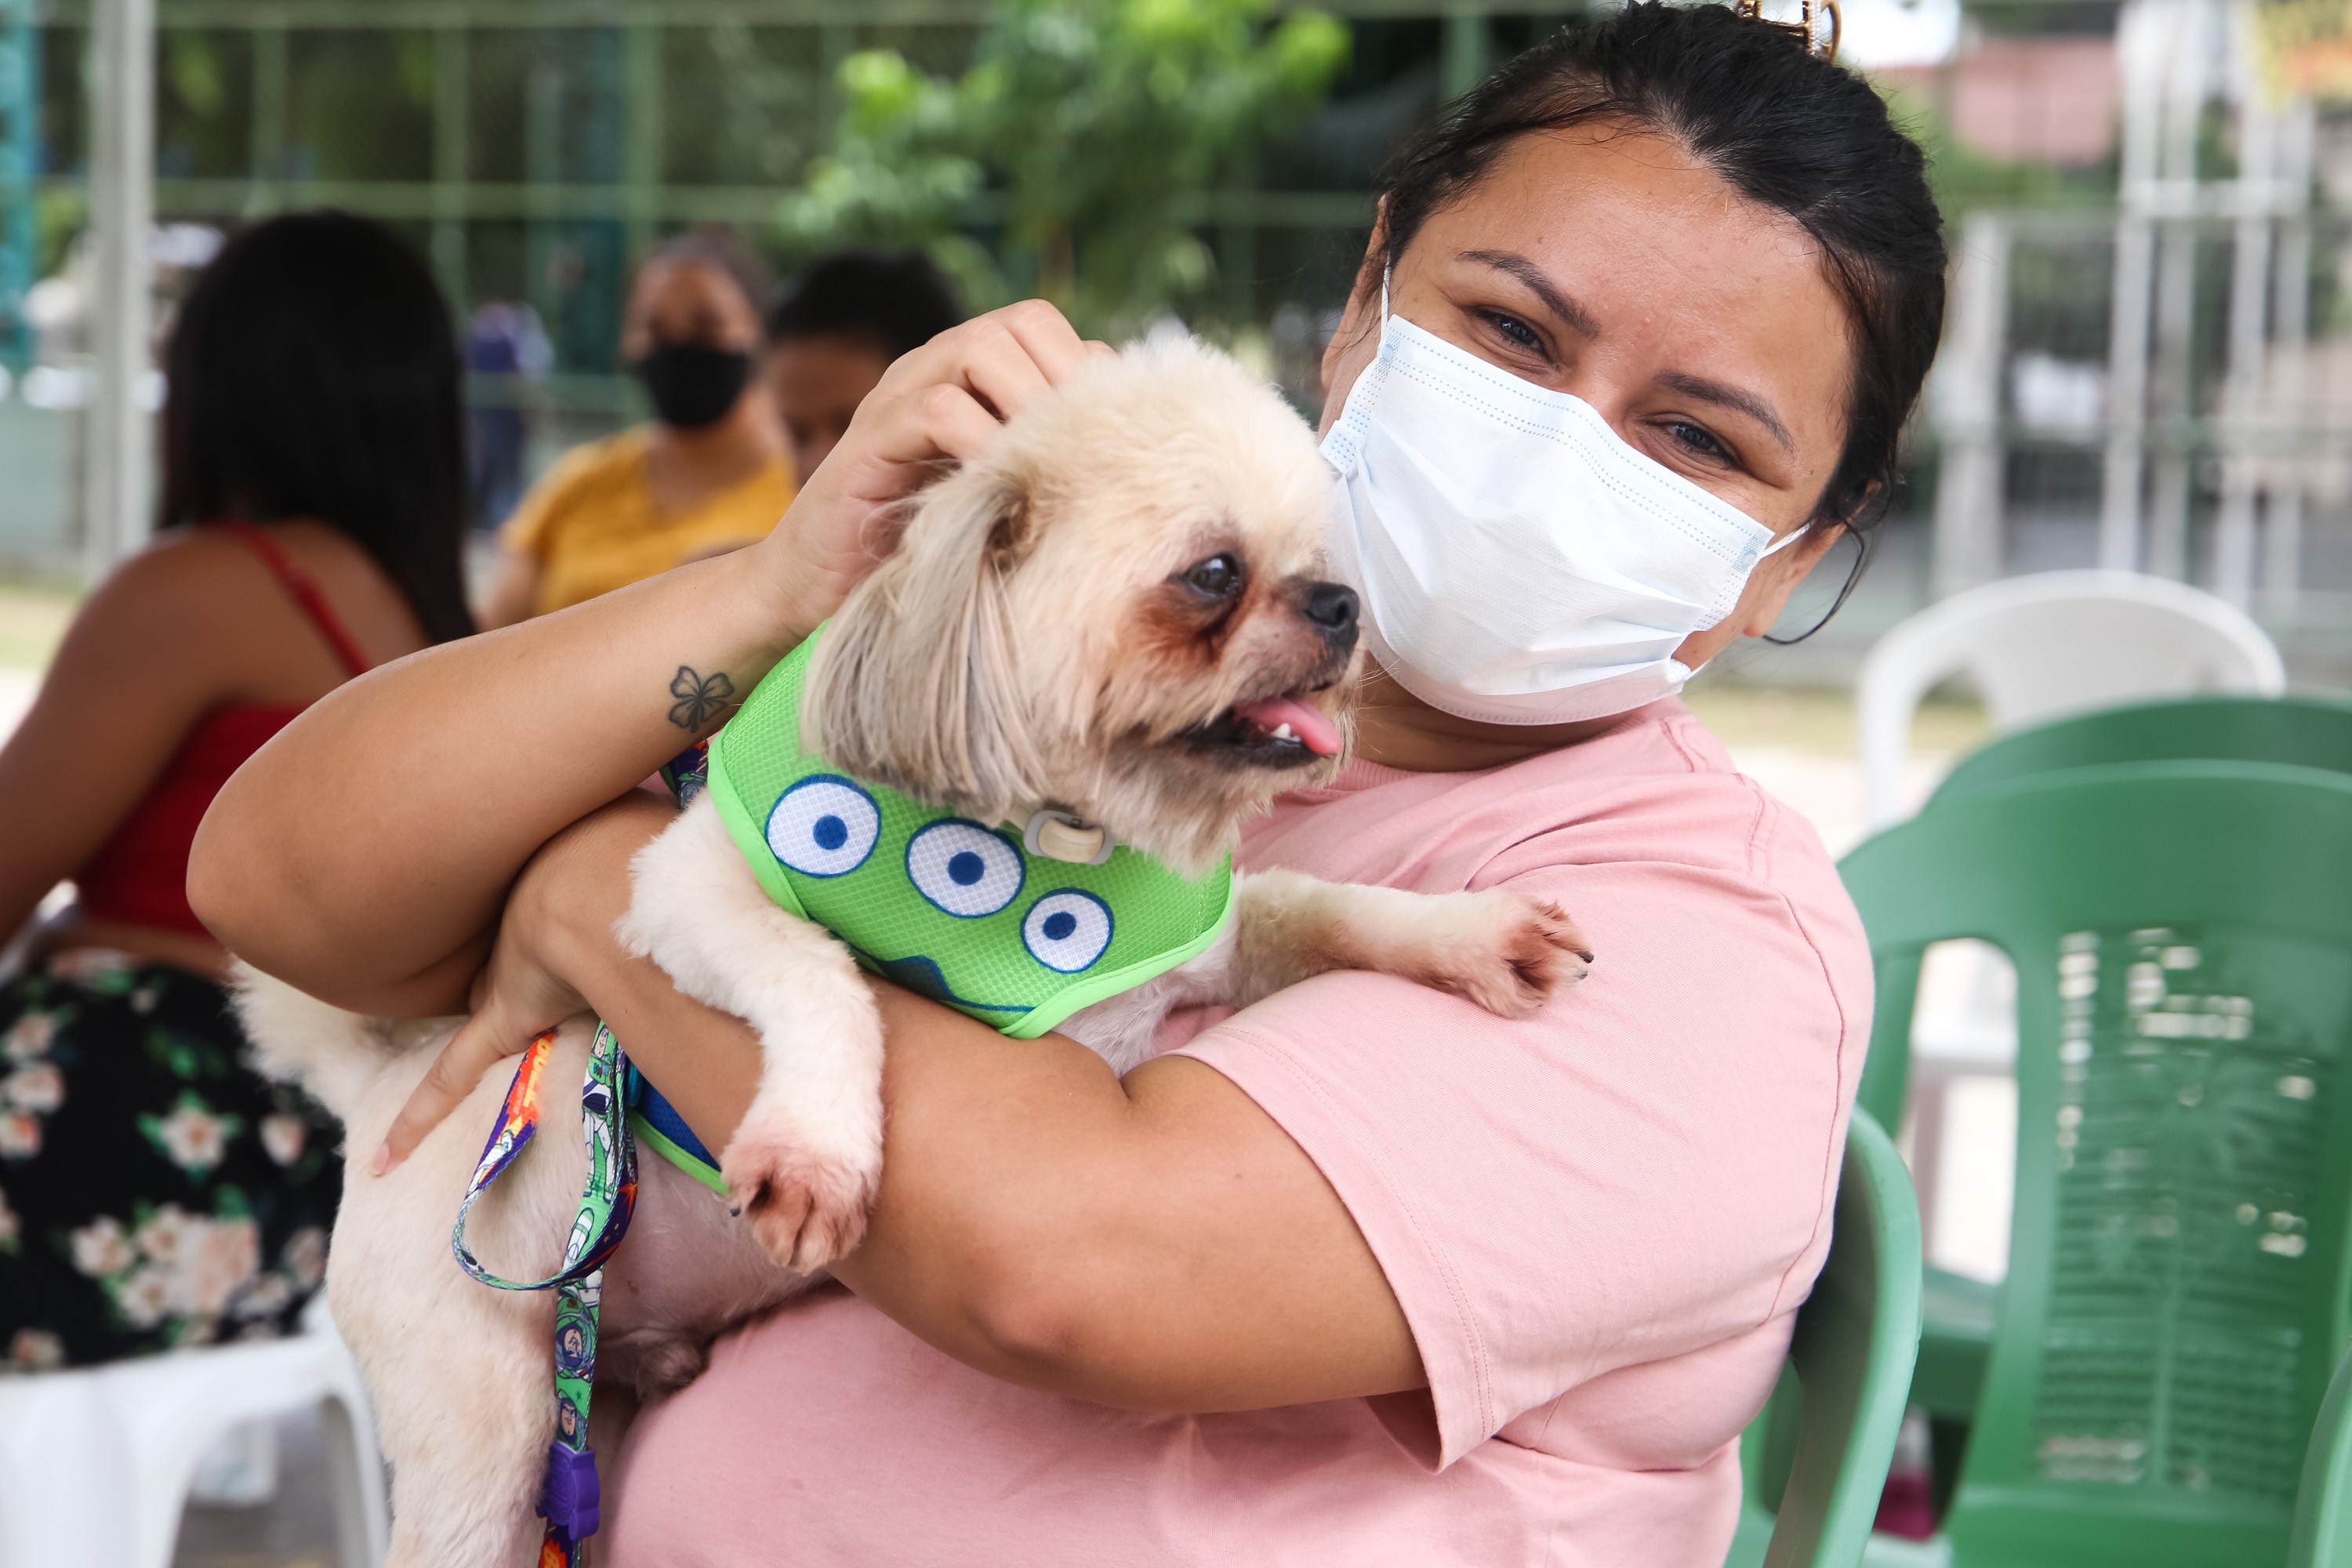
[(1842, 872), (1872, 1072), (1903, 1067), (1931, 943), (2018, 969), (2009, 1279), (1938, 1544), (1959, 1568), (2284, 1563), (2352, 1267), (2352, 776), (2044, 773)]

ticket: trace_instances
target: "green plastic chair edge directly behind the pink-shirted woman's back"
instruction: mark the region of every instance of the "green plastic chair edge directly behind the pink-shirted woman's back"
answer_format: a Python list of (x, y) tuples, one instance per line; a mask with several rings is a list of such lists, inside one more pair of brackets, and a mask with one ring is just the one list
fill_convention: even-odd
[(1896, 1145), (1856, 1112), (1830, 1258), (1797, 1312), (1780, 1387), (1740, 1439), (1745, 1497), (1726, 1568), (1860, 1561), (1917, 1347), (1919, 1204)]

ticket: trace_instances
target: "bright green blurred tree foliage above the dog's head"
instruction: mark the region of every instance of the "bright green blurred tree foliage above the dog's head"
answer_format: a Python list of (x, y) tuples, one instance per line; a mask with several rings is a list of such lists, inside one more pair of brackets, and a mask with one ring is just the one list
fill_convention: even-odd
[(1204, 197), (1345, 61), (1338, 21), (1272, 0), (1004, 0), (960, 78), (849, 56), (833, 150), (779, 226), (804, 254), (922, 244), (976, 306), (1037, 292), (1084, 331), (1131, 331), (1207, 301)]

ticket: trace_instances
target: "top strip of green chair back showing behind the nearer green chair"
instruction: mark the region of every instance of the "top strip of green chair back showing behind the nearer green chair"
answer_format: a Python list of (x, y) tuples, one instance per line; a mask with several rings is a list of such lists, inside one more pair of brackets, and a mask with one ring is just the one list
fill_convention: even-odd
[(2034, 773), (2117, 762), (2284, 762), (2352, 773), (2352, 703), (2199, 696), (2056, 719), (1964, 757), (1924, 809)]

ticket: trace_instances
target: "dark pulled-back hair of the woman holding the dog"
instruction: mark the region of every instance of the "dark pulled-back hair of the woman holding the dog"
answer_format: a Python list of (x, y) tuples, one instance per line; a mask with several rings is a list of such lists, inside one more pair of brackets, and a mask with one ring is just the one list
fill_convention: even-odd
[(1722, 5), (1635, 0), (1505, 61), (1397, 150), (1378, 183), (1385, 263), (1512, 141), (1592, 120), (1672, 136), (1820, 247), (1853, 320), (1853, 383), (1846, 449), (1813, 515), (1867, 529), (1884, 512), (1903, 421), (1943, 336), (1943, 214), (1919, 143), (1896, 129), (1870, 82), (1790, 31)]

